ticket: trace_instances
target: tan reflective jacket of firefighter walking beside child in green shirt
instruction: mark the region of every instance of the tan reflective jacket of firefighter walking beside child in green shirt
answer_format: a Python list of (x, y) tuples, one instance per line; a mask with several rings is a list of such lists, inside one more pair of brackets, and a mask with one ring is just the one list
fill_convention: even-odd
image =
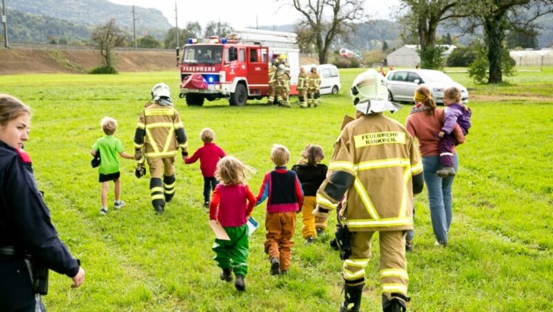
[(135, 150), (145, 149), (146, 157), (175, 157), (180, 147), (188, 153), (185, 127), (178, 111), (149, 101), (138, 117), (134, 144)]

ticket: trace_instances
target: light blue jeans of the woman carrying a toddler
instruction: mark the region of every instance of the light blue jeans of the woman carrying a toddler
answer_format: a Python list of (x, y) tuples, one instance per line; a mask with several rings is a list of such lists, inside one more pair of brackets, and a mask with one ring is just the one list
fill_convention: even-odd
[[(447, 234), (453, 217), (451, 209), (453, 176), (442, 178), (436, 175), (436, 171), (442, 168), (440, 156), (422, 157), (422, 167), (424, 168), (424, 183), (427, 184), (432, 229), (438, 242), (447, 243)], [(453, 168), (456, 172), (459, 168), (457, 154), (453, 155)]]

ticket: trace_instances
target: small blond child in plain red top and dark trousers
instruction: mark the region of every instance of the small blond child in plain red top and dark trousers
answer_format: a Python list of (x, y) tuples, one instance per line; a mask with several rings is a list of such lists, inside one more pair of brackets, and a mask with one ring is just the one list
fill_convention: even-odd
[(213, 143), (215, 133), (212, 129), (203, 128), (200, 131), (200, 139), (203, 146), (198, 148), (192, 157), (185, 157), (185, 164), (193, 164), (198, 158), (200, 159), (200, 169), (203, 175), (203, 206), (207, 208), (209, 195), (218, 183), (215, 178), (215, 167), (219, 159), (225, 157), (225, 152)]

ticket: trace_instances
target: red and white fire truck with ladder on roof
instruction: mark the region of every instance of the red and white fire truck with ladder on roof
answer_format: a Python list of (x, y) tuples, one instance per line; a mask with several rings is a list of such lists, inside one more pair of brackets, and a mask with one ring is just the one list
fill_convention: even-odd
[(210, 37), (198, 43), (188, 39), (182, 47), (180, 95), (189, 106), (225, 98), (231, 106), (243, 106), (247, 99), (268, 97), (271, 61), (285, 57), (290, 68), (290, 94), (297, 95), (299, 48), (293, 32), (243, 29), (227, 38)]

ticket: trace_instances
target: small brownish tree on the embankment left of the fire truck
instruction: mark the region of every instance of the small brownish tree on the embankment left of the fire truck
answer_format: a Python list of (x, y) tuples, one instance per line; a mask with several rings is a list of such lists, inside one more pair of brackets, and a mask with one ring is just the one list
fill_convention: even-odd
[(96, 26), (91, 33), (91, 41), (100, 50), (102, 63), (106, 68), (113, 68), (115, 65), (115, 55), (113, 49), (121, 46), (126, 39), (126, 35), (115, 23), (115, 19), (110, 19), (104, 24)]

